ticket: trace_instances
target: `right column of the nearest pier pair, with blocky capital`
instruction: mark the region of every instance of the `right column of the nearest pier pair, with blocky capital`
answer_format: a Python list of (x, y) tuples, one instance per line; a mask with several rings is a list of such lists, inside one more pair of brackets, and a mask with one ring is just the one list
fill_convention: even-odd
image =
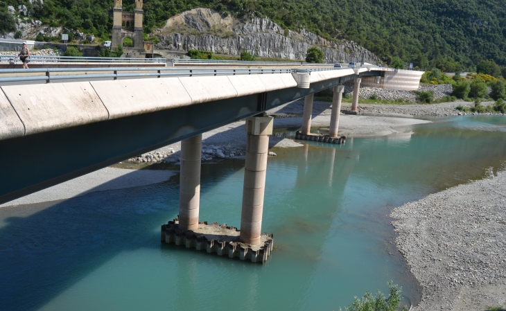
[[(313, 96), (311, 96), (312, 105)], [(240, 240), (250, 245), (259, 245), (261, 242), (263, 195), (269, 149), (268, 135), (272, 134), (272, 124), (273, 118), (265, 114), (246, 119), (247, 143)]]

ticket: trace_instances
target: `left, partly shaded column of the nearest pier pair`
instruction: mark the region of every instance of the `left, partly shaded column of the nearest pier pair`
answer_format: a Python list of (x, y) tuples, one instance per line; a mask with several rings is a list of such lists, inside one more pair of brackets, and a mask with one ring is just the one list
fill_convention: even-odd
[(202, 134), (181, 141), (180, 213), (182, 230), (198, 229)]

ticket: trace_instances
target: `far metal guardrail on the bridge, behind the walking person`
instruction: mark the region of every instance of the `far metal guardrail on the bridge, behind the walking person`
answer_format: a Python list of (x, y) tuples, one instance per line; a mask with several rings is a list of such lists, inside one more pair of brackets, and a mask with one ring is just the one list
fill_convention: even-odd
[[(16, 55), (0, 55), (0, 62), (17, 62)], [(130, 58), (130, 57), (84, 57), (84, 56), (46, 56), (30, 55), (30, 62), (146, 62), (166, 63), (166, 58)]]

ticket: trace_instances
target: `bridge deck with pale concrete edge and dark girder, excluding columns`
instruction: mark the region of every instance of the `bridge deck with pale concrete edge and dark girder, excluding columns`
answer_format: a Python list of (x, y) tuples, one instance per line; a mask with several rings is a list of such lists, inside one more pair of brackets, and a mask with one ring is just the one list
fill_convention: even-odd
[(404, 74), (379, 68), (205, 70), (130, 80), (88, 75), (78, 82), (63, 82), (62, 75), (60, 83), (1, 86), (0, 203), (347, 81)]

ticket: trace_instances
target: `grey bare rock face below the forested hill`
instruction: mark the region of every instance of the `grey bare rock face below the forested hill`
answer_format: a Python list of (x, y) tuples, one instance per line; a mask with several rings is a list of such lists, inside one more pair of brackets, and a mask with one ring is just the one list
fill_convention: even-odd
[(161, 41), (159, 48), (172, 51), (197, 49), (228, 55), (247, 51), (259, 57), (304, 60), (308, 48), (317, 46), (324, 52), (325, 62), (381, 62), (354, 42), (333, 42), (304, 29), (299, 32), (283, 29), (265, 18), (254, 17), (242, 22), (207, 8), (175, 15), (154, 34)]

